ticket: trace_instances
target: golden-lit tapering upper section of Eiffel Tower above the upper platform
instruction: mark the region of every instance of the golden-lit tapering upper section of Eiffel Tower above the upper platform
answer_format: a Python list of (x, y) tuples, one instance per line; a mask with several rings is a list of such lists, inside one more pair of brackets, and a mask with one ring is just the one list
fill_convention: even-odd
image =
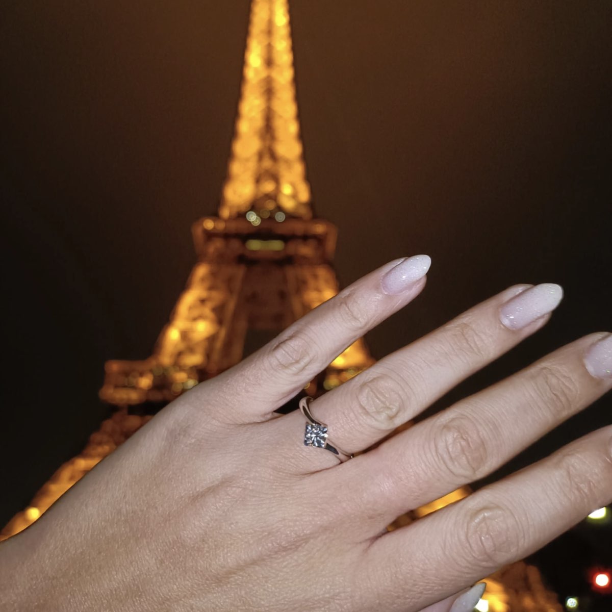
[(241, 99), (219, 217), (312, 218), (287, 0), (253, 0)]

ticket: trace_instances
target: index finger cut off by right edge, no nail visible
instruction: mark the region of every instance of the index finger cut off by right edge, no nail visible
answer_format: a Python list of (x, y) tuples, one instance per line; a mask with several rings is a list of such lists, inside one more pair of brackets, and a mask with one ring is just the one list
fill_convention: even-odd
[[(394, 593), (390, 612), (405, 610), (410, 598), (414, 610), (419, 610), (436, 599), (422, 594), (430, 592), (430, 585), (441, 576), (446, 584), (442, 595), (456, 591), (534, 553), (611, 501), (612, 426), (608, 426), (374, 540), (355, 580), (364, 597), (376, 600)], [(394, 601), (401, 606), (394, 607)]]

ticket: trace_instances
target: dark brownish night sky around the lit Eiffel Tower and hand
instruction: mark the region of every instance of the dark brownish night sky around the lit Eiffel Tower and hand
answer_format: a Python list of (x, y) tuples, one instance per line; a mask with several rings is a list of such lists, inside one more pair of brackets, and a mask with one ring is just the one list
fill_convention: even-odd
[[(424, 294), (368, 334), (374, 356), (514, 283), (565, 289), (545, 329), (434, 409), (612, 330), (611, 6), (291, 5), (308, 178), (339, 228), (341, 285), (433, 259)], [(105, 360), (146, 357), (184, 286), (190, 224), (225, 177), (247, 23), (247, 0), (2, 4), (2, 524), (108, 416)], [(611, 531), (581, 523), (534, 561), (580, 594), (584, 567), (612, 565)]]

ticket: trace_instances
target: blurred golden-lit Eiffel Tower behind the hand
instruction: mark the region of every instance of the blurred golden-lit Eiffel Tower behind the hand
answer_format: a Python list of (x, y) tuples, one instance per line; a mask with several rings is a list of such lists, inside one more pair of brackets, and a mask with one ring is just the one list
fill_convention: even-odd
[[(106, 363), (100, 398), (116, 407), (80, 455), (62, 465), (0, 540), (34, 523), (154, 412), (262, 346), (338, 292), (337, 230), (316, 218), (305, 177), (295, 97), (288, 0), (252, 0), (241, 99), (217, 216), (192, 226), (198, 262), (153, 353)], [(305, 387), (316, 397), (373, 364), (363, 340)], [(407, 424), (405, 427), (409, 427)], [(412, 510), (395, 529), (449, 503), (461, 487)], [(562, 612), (539, 570), (520, 561), (485, 579), (479, 610)]]

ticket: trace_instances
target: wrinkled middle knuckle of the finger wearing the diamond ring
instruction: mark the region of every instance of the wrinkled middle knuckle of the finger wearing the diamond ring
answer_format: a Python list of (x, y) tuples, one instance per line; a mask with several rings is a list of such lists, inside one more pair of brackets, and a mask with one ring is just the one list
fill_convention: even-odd
[(403, 392), (392, 376), (378, 374), (365, 379), (355, 392), (359, 417), (367, 427), (377, 430), (394, 430), (401, 425)]

